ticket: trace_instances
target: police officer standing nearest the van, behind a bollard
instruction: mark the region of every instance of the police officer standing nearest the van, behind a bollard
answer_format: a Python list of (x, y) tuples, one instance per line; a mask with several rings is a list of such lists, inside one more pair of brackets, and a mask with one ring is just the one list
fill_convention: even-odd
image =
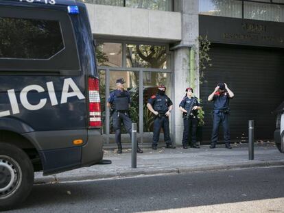
[[(117, 90), (110, 92), (108, 97), (108, 108), (113, 110), (113, 127), (115, 128), (115, 142), (117, 142), (117, 153), (122, 153), (121, 147), (121, 123), (123, 123), (126, 131), (130, 134), (132, 131), (132, 121), (130, 119), (128, 110), (130, 107), (130, 95), (127, 90), (124, 90), (123, 78), (117, 79)], [(143, 151), (137, 145), (137, 153), (143, 153)]]

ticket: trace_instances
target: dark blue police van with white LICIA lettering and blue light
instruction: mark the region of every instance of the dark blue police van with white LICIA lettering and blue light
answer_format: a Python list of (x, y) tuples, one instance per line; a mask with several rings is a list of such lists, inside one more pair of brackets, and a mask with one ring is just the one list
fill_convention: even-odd
[(99, 79), (86, 6), (0, 0), (0, 210), (50, 175), (102, 162)]

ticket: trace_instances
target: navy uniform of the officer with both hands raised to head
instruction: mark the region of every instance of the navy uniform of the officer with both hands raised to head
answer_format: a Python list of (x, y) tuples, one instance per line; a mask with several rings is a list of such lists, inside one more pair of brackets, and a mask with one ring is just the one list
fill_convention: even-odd
[(226, 146), (230, 145), (230, 130), (228, 124), (228, 116), (230, 114), (229, 102), (230, 96), (228, 92), (215, 92), (213, 96), (214, 110), (213, 110), (213, 129), (211, 136), (211, 146), (215, 147), (218, 140), (218, 129), (222, 123), (224, 131), (224, 140)]

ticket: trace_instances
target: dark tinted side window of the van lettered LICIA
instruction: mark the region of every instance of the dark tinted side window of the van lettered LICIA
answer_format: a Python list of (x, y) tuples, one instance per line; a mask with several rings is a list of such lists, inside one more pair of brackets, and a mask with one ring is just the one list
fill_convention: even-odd
[(0, 58), (48, 59), (64, 48), (58, 21), (0, 17)]

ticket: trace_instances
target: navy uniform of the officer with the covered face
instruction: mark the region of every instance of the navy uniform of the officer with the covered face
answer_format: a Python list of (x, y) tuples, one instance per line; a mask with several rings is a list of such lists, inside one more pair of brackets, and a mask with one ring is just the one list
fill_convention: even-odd
[(161, 128), (163, 128), (164, 131), (164, 140), (167, 147), (171, 146), (171, 138), (169, 137), (169, 117), (165, 115), (169, 110), (169, 106), (173, 104), (171, 99), (169, 99), (167, 95), (153, 95), (148, 100), (148, 103), (150, 103), (152, 108), (158, 112), (158, 115), (154, 118), (152, 147), (157, 147), (158, 145)]

